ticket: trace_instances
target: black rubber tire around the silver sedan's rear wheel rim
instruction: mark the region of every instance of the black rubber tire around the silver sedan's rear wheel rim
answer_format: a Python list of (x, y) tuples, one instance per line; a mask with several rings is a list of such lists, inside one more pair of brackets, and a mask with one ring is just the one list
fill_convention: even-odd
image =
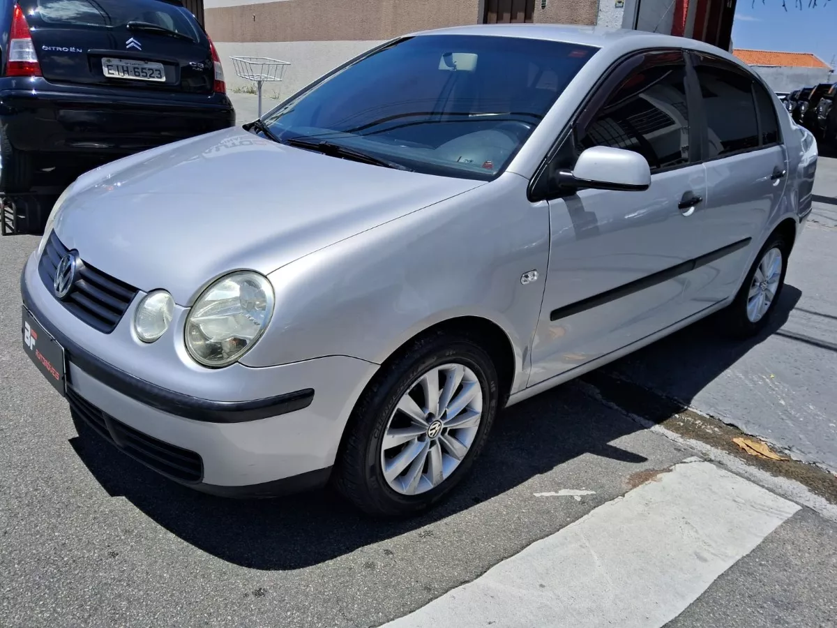
[[(755, 287), (753, 286), (753, 279), (757, 270), (759, 270), (759, 267), (765, 261), (765, 257), (768, 255), (768, 252), (773, 250), (777, 250), (779, 255), (781, 255), (780, 261), (782, 268), (778, 271), (778, 283), (775, 284), (772, 297), (769, 296), (769, 289), (761, 290), (766, 300), (767, 309), (762, 311), (763, 308), (761, 307), (753, 308), (753, 310), (761, 311), (761, 315), (758, 316), (756, 320), (753, 320), (753, 313), (757, 312), (754, 312), (753, 310), (748, 311), (748, 306), (753, 305), (751, 303), (750, 296), (751, 289)], [(752, 337), (761, 332), (764, 327), (767, 327), (768, 322), (770, 322), (770, 317), (776, 309), (779, 297), (782, 295), (785, 273), (788, 270), (789, 254), (790, 246), (788, 245), (788, 242), (779, 234), (771, 235), (767, 243), (762, 247), (762, 250), (758, 251), (758, 255), (756, 255), (756, 259), (753, 261), (750, 270), (747, 272), (747, 276), (744, 278), (742, 286), (738, 289), (735, 299), (721, 312), (721, 321), (724, 323), (724, 329), (728, 335), (736, 338)], [(768, 280), (769, 277), (765, 281)], [(770, 282), (768, 281), (768, 284), (769, 283)]]

